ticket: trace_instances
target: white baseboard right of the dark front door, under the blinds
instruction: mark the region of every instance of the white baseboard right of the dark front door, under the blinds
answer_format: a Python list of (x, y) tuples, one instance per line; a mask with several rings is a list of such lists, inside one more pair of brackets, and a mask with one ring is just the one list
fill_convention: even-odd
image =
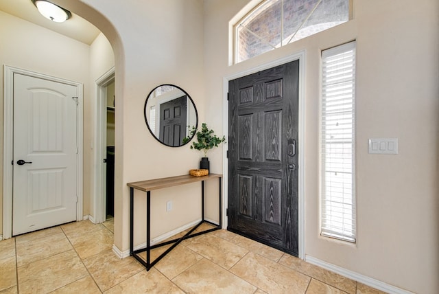
[(359, 273), (355, 273), (355, 271), (350, 271), (348, 269), (344, 269), (342, 267), (338, 267), (335, 264), (331, 264), (328, 262), (324, 262), (323, 260), (319, 260), (318, 258), (313, 258), (312, 256), (305, 256), (305, 260), (311, 264), (315, 264), (318, 267), (322, 267), (323, 269), (327, 269), (329, 271), (333, 271), (334, 273), (338, 273), (339, 275), (343, 275), (346, 278), (351, 280), (355, 280), (367, 286), (371, 286), (375, 289), (385, 291), (387, 293), (394, 294), (413, 294), (410, 291), (400, 289), (396, 286), (392, 286), (390, 284), (386, 284), (385, 282), (381, 282), (379, 280), (375, 280), (367, 277), (366, 275), (361, 275)]

